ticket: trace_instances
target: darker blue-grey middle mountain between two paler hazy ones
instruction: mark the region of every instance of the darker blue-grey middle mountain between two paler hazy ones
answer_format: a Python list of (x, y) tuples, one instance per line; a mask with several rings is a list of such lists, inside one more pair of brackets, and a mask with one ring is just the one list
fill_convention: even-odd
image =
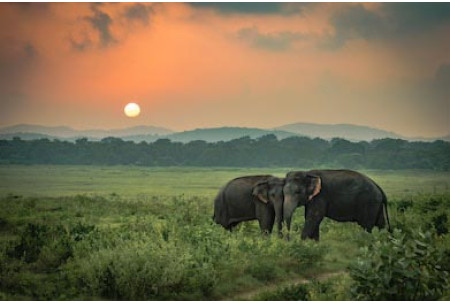
[(297, 136), (283, 130), (267, 130), (260, 128), (247, 127), (217, 127), (217, 128), (199, 128), (179, 133), (173, 133), (164, 138), (174, 142), (190, 142), (194, 140), (203, 140), (206, 142), (230, 141), (233, 139), (249, 136), (252, 139), (262, 137), (264, 135), (274, 134), (278, 139)]

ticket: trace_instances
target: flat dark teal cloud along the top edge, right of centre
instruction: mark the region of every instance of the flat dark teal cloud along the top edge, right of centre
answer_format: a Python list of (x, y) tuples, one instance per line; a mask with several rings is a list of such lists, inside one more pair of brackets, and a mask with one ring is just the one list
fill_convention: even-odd
[(281, 3), (281, 2), (198, 2), (191, 3), (193, 7), (209, 8), (221, 14), (296, 14), (302, 11), (304, 3)]

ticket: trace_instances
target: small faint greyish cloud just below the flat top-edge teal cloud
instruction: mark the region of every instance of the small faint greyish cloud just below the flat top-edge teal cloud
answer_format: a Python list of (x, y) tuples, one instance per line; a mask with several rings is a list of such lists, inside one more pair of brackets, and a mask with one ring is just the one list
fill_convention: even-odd
[(250, 43), (252, 47), (269, 51), (284, 51), (292, 46), (296, 40), (304, 36), (292, 32), (278, 32), (274, 34), (261, 34), (257, 28), (243, 28), (238, 32), (238, 38)]

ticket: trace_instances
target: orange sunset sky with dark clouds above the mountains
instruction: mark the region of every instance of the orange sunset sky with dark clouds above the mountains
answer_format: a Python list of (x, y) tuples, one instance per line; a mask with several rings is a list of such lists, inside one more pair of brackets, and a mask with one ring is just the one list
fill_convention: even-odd
[(296, 122), (449, 134), (450, 3), (0, 3), (0, 126)]

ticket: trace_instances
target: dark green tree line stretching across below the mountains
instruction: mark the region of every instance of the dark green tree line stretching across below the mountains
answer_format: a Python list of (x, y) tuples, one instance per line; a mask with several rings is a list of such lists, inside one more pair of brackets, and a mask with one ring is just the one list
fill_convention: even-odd
[(208, 143), (153, 143), (108, 137), (61, 140), (0, 140), (1, 164), (83, 164), (142, 166), (329, 167), (350, 169), (450, 169), (450, 142), (378, 139), (350, 142), (335, 138), (275, 135)]

